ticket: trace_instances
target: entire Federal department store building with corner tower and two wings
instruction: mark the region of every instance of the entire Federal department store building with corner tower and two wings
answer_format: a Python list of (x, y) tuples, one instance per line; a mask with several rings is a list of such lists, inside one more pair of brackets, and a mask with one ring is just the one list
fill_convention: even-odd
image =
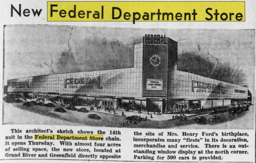
[(162, 113), (231, 105), (248, 96), (241, 86), (177, 70), (178, 43), (165, 35), (134, 39), (133, 67), (11, 79), (8, 94), (75, 99), (78, 104), (112, 105)]

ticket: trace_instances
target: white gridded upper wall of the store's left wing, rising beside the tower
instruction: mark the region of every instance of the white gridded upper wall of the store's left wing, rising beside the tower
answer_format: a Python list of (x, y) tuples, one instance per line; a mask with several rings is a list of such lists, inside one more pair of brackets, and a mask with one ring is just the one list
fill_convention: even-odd
[[(138, 38), (139, 40), (141, 38)], [(136, 39), (135, 39), (136, 40)], [(143, 41), (143, 39), (142, 39)], [(60, 93), (67, 95), (88, 95), (88, 96), (111, 96), (111, 97), (142, 97), (142, 57), (143, 42), (137, 41), (134, 44), (134, 66), (131, 68), (121, 68), (112, 70), (100, 70), (89, 72), (65, 73), (40, 75), (8, 80), (8, 92), (41, 92)], [(68, 84), (64, 88), (64, 80), (67, 78), (97, 77), (100, 76), (100, 86), (91, 85), (93, 88), (79, 88), (81, 84)], [(28, 81), (28, 88), (13, 87), (13, 82)], [(69, 88), (69, 86), (78, 88)]]

